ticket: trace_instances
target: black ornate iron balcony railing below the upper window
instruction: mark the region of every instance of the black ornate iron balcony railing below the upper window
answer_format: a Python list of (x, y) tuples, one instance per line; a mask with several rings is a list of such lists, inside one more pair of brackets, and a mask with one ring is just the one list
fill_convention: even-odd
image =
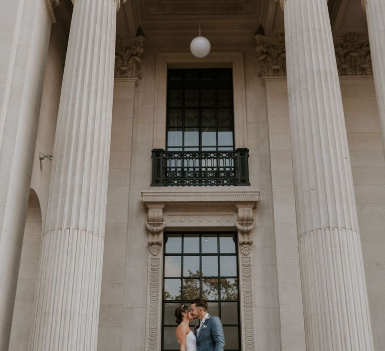
[(249, 149), (152, 150), (151, 187), (249, 186)]

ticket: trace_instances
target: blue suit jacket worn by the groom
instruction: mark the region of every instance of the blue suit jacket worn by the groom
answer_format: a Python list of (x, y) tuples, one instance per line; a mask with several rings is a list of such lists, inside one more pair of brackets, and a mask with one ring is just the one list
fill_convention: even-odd
[[(197, 336), (197, 330), (195, 336)], [(198, 351), (223, 351), (225, 349), (225, 335), (219, 317), (209, 314), (197, 336)]]

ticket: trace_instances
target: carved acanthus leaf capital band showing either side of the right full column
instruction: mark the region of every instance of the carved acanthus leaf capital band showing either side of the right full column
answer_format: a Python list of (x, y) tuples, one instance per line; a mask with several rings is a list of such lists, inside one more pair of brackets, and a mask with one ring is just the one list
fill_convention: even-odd
[[(268, 38), (256, 35), (257, 57), (261, 62), (262, 76), (286, 76), (286, 50), (284, 36)], [(371, 76), (372, 67), (369, 43), (358, 40), (355, 33), (347, 34), (342, 43), (334, 45), (340, 76)]]

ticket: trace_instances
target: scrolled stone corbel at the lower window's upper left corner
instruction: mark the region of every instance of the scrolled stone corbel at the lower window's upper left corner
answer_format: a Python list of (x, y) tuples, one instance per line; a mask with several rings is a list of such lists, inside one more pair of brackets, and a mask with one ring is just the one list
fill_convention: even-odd
[(163, 229), (166, 226), (163, 208), (164, 204), (148, 207), (148, 220), (146, 220), (146, 227), (148, 229), (148, 250), (153, 256), (159, 254), (163, 243)]

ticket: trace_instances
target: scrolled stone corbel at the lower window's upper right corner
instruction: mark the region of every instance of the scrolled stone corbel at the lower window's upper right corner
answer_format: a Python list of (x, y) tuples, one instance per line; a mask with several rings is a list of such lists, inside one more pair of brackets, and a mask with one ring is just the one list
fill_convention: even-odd
[(253, 230), (254, 216), (253, 208), (251, 204), (237, 204), (238, 214), (235, 219), (235, 226), (238, 229), (238, 242), (241, 252), (247, 256), (250, 254), (253, 246), (253, 238), (250, 232)]

